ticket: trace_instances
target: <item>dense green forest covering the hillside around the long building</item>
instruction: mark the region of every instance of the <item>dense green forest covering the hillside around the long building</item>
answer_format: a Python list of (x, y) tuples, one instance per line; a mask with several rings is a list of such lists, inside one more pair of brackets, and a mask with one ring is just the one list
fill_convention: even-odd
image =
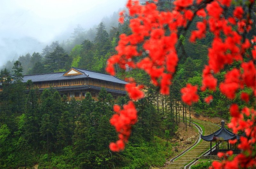
[[(172, 6), (172, 1), (159, 1), (158, 5), (160, 10), (166, 10)], [(195, 22), (196, 19), (190, 29), (195, 29)], [(201, 100), (192, 107), (186, 107), (180, 99), (180, 89), (186, 83), (202, 86), (202, 69), (207, 64), (207, 48), (212, 41), (209, 32), (206, 39), (195, 44), (189, 43), (189, 33), (180, 36), (183, 48), (178, 50), (180, 61), (169, 96), (159, 94), (159, 88), (150, 84), (145, 72), (116, 67), (117, 77), (133, 77), (145, 85), (146, 91), (145, 98), (136, 102), (138, 123), (133, 126), (129, 143), (120, 153), (111, 152), (108, 148), (109, 142), (117, 139), (109, 119), (114, 114), (113, 105), (126, 104), (128, 97), (114, 100), (102, 88), (97, 102), (90, 93), (82, 101), (68, 101), (54, 89), (40, 93), (32, 87), (31, 81), (27, 84), (21, 82), (22, 74), (67, 71), (71, 66), (105, 73), (107, 59), (115, 54), (122, 33), (130, 33), (129, 18), (124, 24), (108, 26), (108, 29), (104, 22), (100, 22), (95, 30), (88, 31), (78, 25), (72, 41), (54, 41), (45, 46), (42, 53), (28, 53), (5, 65), (0, 74), (3, 87), (0, 92), (0, 168), (31, 167), (35, 164), (39, 164), (40, 169), (162, 166), (165, 158), (171, 155), (167, 152), (173, 151), (168, 140), (177, 130), (178, 123), (183, 122), (180, 118), (184, 119), (184, 111), (230, 118), (227, 105), (231, 102), (219, 88), (215, 92), (199, 92)], [(225, 67), (216, 78), (222, 81), (231, 68)], [(244, 88), (241, 92), (252, 93), (252, 90)], [(202, 99), (209, 93), (214, 97), (210, 105)], [(235, 102), (251, 107), (254, 100), (250, 98), (246, 103), (238, 96)]]

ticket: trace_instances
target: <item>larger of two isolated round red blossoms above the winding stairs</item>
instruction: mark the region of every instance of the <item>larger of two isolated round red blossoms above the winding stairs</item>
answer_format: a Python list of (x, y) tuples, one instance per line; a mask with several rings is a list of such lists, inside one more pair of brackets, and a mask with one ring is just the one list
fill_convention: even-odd
[(187, 84), (185, 88), (180, 90), (182, 96), (181, 99), (184, 103), (188, 105), (192, 105), (192, 103), (198, 102), (199, 96), (196, 94), (197, 85), (192, 86), (191, 84)]

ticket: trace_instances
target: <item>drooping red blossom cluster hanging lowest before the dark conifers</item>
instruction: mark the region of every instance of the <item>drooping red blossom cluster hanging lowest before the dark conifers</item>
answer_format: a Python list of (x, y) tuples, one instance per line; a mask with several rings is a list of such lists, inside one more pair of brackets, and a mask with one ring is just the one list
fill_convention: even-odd
[(116, 128), (116, 131), (119, 133), (119, 140), (116, 143), (111, 142), (109, 148), (111, 151), (120, 151), (124, 150), (125, 143), (128, 142), (128, 138), (131, 134), (132, 125), (137, 122), (137, 110), (133, 102), (129, 101), (128, 104), (121, 107), (114, 105), (114, 111), (116, 114), (110, 119), (110, 124)]

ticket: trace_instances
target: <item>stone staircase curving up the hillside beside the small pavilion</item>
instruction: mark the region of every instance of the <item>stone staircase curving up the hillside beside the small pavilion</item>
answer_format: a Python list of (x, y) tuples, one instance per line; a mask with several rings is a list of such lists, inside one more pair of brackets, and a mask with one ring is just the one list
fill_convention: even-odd
[[(220, 127), (218, 127), (210, 122), (205, 122), (205, 121), (196, 120), (196, 119), (193, 119), (193, 121), (204, 126), (203, 135), (212, 134), (212, 132), (215, 132), (218, 129), (220, 129)], [(212, 143), (212, 146), (214, 146), (213, 143)], [(165, 169), (181, 169), (185, 165), (187, 165), (189, 162), (195, 160), (201, 154), (203, 154), (206, 150), (209, 150), (209, 149), (210, 149), (210, 142), (206, 142), (201, 139), (201, 141), (198, 144), (196, 144), (191, 150), (184, 153), (182, 156), (176, 158), (170, 164), (166, 165), (164, 168)]]

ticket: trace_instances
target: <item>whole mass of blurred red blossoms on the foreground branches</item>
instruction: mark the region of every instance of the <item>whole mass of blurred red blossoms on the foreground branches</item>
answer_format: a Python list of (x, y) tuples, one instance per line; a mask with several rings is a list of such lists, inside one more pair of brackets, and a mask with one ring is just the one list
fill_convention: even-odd
[[(233, 14), (226, 16), (224, 12), (230, 7), (231, 1), (176, 0), (173, 9), (164, 12), (157, 10), (157, 0), (145, 5), (140, 5), (138, 0), (128, 0), (126, 7), (130, 15), (129, 27), (132, 33), (120, 35), (116, 46), (117, 54), (108, 59), (106, 71), (114, 75), (115, 64), (123, 69), (129, 66), (144, 70), (150, 76), (152, 84), (158, 86), (162, 94), (169, 94), (172, 76), (179, 61), (176, 47), (180, 32), (187, 30), (189, 23), (197, 15), (202, 21), (196, 23), (197, 30), (191, 31), (190, 41), (196, 42), (197, 39), (204, 38), (207, 31), (214, 36), (211, 47), (208, 49), (209, 61), (203, 70), (201, 90), (215, 91), (218, 83), (214, 75), (223, 70), (225, 66), (239, 61), (236, 62), (236, 68), (226, 73), (225, 80), (219, 83), (219, 88), (221, 93), (229, 99), (234, 99), (236, 94), (244, 88), (251, 88), (253, 93), (241, 92), (240, 95), (242, 100), (249, 103), (250, 97), (256, 96), (256, 36), (247, 39), (245, 34), (252, 29), (252, 24), (254, 24), (248, 13), (248, 8), (255, 5), (255, 0), (249, 0), (244, 6), (236, 6)], [(121, 12), (120, 16), (119, 21), (123, 23), (124, 12)], [(240, 65), (237, 66), (237, 64)], [(133, 100), (138, 100), (144, 96), (141, 91), (143, 87), (135, 84), (132, 82), (126, 85), (126, 90)], [(197, 102), (199, 97), (196, 92), (197, 86), (188, 84), (182, 88), (183, 102), (188, 105)], [(212, 99), (213, 97), (210, 95), (204, 98), (204, 101), (209, 104)], [(111, 118), (110, 122), (121, 135), (119, 134), (119, 140), (116, 143), (110, 144), (110, 149), (113, 151), (124, 149), (124, 143), (127, 142), (131, 132), (131, 125), (136, 122), (133, 120), (132, 123), (127, 123), (129, 118), (123, 118), (123, 115), (121, 118), (121, 112), (127, 113), (127, 110), (130, 110), (129, 107), (132, 113), (136, 112), (132, 102), (125, 105), (121, 111), (120, 107), (114, 107), (117, 114)], [(232, 119), (228, 127), (232, 128), (235, 133), (238, 131), (246, 133), (246, 137), (241, 137), (241, 142), (238, 145), (243, 152), (233, 161), (228, 161), (228, 158), (225, 158), (222, 162), (213, 162), (212, 168), (238, 169), (255, 166), (255, 153), (253, 154), (249, 149), (252, 150), (252, 145), (255, 145), (256, 111), (247, 107), (239, 110), (237, 104), (231, 104), (230, 115)], [(127, 124), (129, 125), (127, 126)], [(229, 142), (235, 143), (236, 140)], [(219, 154), (221, 157), (231, 155), (231, 151)]]

